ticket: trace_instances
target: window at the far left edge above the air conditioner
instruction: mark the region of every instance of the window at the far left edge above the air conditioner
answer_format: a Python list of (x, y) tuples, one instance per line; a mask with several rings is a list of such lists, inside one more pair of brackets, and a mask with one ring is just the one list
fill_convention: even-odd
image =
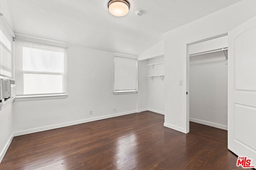
[[(1, 28), (4, 30), (3, 28)], [(12, 36), (0, 29), (0, 76), (12, 78)], [(8, 36), (8, 38), (6, 37)]]

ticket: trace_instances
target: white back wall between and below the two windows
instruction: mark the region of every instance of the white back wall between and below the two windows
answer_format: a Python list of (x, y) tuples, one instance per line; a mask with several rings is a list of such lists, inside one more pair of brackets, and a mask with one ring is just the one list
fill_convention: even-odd
[(113, 95), (113, 53), (70, 45), (66, 56), (67, 98), (14, 102), (14, 135), (137, 112), (137, 94)]

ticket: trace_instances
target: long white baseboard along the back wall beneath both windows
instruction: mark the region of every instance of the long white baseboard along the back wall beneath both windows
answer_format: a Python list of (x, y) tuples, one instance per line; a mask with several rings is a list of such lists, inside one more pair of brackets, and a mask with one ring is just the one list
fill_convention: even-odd
[(111, 117), (118, 117), (118, 116), (122, 116), (122, 115), (128, 115), (128, 114), (131, 114), (131, 113), (137, 113), (137, 110), (126, 111), (126, 112), (122, 112), (122, 113), (115, 113), (115, 114), (99, 116), (99, 117), (93, 117), (93, 118), (83, 119), (83, 120), (79, 120), (79, 121), (60, 123), (60, 124), (57, 124), (57, 125), (38, 127), (38, 128), (34, 128), (34, 129), (27, 129), (27, 130), (24, 130), (24, 131), (17, 131), (17, 132), (13, 133), (13, 136), (16, 137), (16, 136), (26, 135), (26, 134), (30, 134), (30, 133), (36, 133), (36, 132), (41, 132), (41, 131), (48, 131), (48, 130), (57, 129), (57, 128), (61, 128), (61, 127), (78, 125), (78, 124), (81, 124), (81, 123), (87, 123), (87, 122), (91, 122), (91, 121), (108, 119), (108, 118), (111, 118)]

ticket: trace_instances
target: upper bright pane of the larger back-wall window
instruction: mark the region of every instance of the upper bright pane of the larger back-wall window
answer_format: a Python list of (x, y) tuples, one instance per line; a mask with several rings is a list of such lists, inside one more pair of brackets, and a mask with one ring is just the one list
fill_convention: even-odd
[(64, 53), (23, 47), (23, 70), (64, 72)]

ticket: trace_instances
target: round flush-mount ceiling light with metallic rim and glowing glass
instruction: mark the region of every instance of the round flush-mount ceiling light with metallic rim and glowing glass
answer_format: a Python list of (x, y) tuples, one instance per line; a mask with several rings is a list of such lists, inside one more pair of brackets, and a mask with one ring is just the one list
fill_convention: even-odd
[(110, 0), (108, 10), (113, 16), (125, 16), (130, 9), (130, 3), (127, 0)]

